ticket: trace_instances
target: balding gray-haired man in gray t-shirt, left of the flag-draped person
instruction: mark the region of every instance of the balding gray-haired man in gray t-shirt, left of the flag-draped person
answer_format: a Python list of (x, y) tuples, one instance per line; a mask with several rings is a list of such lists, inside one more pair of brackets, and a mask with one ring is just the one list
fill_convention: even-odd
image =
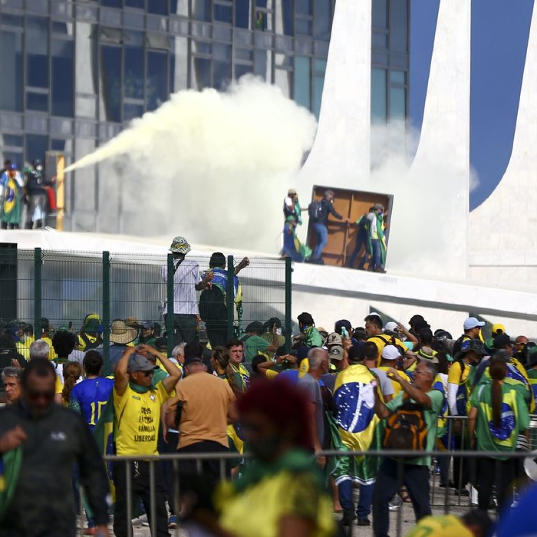
[[(301, 376), (296, 386), (303, 390), (310, 404), (308, 405), (308, 414), (310, 419), (310, 429), (312, 444), (316, 452), (322, 451), (324, 440), (324, 415), (323, 415), (323, 397), (321, 388), (316, 378), (328, 373), (330, 362), (328, 351), (315, 347), (308, 352), (309, 369), (306, 374)], [(317, 459), (321, 466), (324, 466), (326, 459), (321, 457)]]

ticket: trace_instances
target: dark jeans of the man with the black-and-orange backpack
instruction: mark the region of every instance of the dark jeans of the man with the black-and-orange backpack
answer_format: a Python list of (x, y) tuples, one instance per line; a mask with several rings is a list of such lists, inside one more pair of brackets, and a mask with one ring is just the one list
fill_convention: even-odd
[[(402, 465), (401, 468), (398, 464)], [(401, 478), (401, 479), (400, 479)], [(390, 527), (388, 502), (404, 483), (412, 500), (416, 522), (431, 514), (429, 503), (429, 467), (409, 465), (384, 457), (373, 492), (373, 535), (387, 537)]]

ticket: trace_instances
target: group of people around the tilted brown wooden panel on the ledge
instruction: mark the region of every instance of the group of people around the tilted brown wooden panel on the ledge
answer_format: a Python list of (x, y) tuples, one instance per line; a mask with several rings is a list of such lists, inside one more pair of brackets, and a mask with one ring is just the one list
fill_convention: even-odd
[[(289, 188), (284, 199), (284, 244), (282, 255), (290, 257), (295, 262), (324, 264), (322, 254), (328, 245), (328, 219), (332, 215), (336, 220), (343, 220), (347, 224), (356, 226), (355, 243), (346, 266), (350, 269), (359, 259), (359, 270), (371, 272), (386, 272), (386, 237), (384, 231), (387, 226), (388, 213), (381, 204), (375, 204), (369, 211), (360, 216), (355, 222), (344, 219), (333, 207), (334, 193), (325, 190), (320, 200), (312, 201), (307, 208), (300, 206), (298, 194), (294, 188)], [(300, 242), (296, 234), (297, 226), (302, 224), (302, 212), (308, 211), (311, 230), (315, 234), (315, 249)], [(367, 269), (366, 269), (367, 265)]]

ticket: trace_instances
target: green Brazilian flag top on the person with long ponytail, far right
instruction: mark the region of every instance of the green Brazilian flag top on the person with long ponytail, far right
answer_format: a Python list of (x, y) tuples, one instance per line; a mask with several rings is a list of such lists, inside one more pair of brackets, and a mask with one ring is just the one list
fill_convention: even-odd
[[(529, 425), (528, 407), (521, 389), (502, 384), (502, 409), (499, 427), (492, 424), (492, 384), (477, 386), (470, 406), (477, 409), (475, 436), (477, 451), (510, 452), (517, 447), (517, 437)], [(506, 457), (497, 457), (505, 460)]]

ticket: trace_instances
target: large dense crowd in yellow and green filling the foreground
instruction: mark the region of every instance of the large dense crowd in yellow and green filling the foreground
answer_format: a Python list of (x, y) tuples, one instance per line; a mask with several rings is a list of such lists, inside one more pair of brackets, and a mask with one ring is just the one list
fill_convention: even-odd
[[(111, 513), (113, 533), (127, 535), (128, 512), (145, 512), (157, 535), (181, 524), (238, 537), (329, 536), (355, 524), (383, 537), (390, 511), (406, 501), (417, 523), (411, 535), (451, 527), (485, 537), (491, 510), (498, 527), (511, 516), (527, 483), (523, 459), (509, 455), (528, 449), (537, 345), (525, 336), (512, 340), (500, 324), (485, 341), (484, 323), (474, 317), (452, 337), (420, 315), (405, 326), (384, 324), (376, 313), (358, 328), (338, 320), (325, 331), (304, 312), (287, 339), (274, 317), (229, 340), (219, 313), (226, 258), (216, 252), (199, 274), (185, 259), (183, 237), (171, 250), (172, 338), (155, 322), (117, 319), (105, 352), (96, 314), (78, 333), (53, 331), (43, 319), (35, 337), (29, 325), (1, 336), (0, 348), (9, 341), (9, 352), (0, 353), (7, 398), (0, 410), (2, 535), (74, 534), (79, 486), (84, 533), (101, 536)], [(248, 259), (233, 271), (236, 314), (237, 273), (246, 266)], [(208, 296), (183, 303), (196, 291)], [(326, 450), (338, 456), (327, 458)], [(458, 453), (465, 450), (489, 455)], [(433, 451), (434, 459), (422, 454)], [(177, 467), (169, 460), (152, 467), (147, 458), (159, 453), (184, 458)], [(104, 454), (130, 462), (105, 466)], [(437, 472), (440, 487), (454, 494), (475, 489), (477, 510), (433, 517)], [(137, 501), (129, 510), (130, 498)]]

